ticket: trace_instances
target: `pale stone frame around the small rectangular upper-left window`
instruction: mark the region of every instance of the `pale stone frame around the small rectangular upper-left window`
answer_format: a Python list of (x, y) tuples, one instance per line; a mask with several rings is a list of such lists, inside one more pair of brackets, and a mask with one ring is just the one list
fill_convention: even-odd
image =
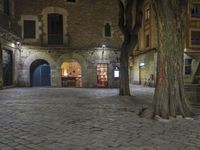
[[(35, 21), (35, 38), (24, 38), (24, 21), (25, 20)], [(21, 29), (22, 29), (21, 35), (24, 42), (36, 42), (37, 40), (39, 40), (39, 35), (41, 34), (41, 31), (39, 30), (38, 16), (21, 15), (21, 20), (19, 24), (21, 25)]]

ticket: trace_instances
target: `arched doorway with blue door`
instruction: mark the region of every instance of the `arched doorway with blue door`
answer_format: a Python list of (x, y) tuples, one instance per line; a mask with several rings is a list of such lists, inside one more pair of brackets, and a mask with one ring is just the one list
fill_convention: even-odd
[(35, 60), (30, 67), (31, 86), (50, 86), (50, 65), (43, 59)]

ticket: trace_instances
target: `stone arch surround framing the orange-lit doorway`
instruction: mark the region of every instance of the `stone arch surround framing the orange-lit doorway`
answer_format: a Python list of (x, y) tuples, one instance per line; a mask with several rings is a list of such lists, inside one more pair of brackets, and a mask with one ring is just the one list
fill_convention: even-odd
[(86, 87), (86, 82), (87, 82), (87, 78), (86, 78), (86, 70), (87, 70), (87, 64), (86, 64), (86, 60), (79, 54), (74, 54), (74, 53), (70, 53), (70, 54), (64, 54), (62, 56), (60, 56), (60, 58), (57, 61), (57, 66), (56, 68), (59, 69), (60, 71), (58, 71), (59, 74), (59, 82), (61, 83), (61, 76), (62, 76), (62, 72), (61, 72), (61, 66), (64, 62), (69, 62), (69, 61), (75, 61), (78, 64), (80, 64), (80, 68), (81, 68), (81, 82), (82, 82), (82, 87)]

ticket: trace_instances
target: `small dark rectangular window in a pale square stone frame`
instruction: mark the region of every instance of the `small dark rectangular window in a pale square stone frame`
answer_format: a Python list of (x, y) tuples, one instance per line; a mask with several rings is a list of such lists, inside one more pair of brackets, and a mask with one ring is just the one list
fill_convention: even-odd
[(24, 20), (24, 38), (35, 38), (34, 20)]

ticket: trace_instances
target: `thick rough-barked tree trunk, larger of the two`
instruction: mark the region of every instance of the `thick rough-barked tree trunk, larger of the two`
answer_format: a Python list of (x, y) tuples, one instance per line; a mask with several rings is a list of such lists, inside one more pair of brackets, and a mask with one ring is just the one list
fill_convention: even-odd
[(154, 0), (158, 25), (157, 85), (154, 116), (190, 116), (184, 94), (183, 51), (187, 0)]

